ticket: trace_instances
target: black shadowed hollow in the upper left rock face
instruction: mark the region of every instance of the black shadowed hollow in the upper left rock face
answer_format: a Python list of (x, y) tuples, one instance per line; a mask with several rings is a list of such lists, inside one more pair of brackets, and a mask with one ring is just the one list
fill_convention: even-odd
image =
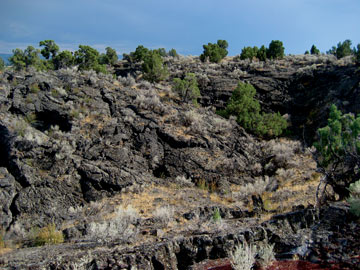
[(44, 132), (51, 126), (58, 126), (63, 132), (71, 131), (71, 123), (67, 116), (61, 115), (57, 111), (43, 111), (36, 113), (36, 123), (33, 126)]

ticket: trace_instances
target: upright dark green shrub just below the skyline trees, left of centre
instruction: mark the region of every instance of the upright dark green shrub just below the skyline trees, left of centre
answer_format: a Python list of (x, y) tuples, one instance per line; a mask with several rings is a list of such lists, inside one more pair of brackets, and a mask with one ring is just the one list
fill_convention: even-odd
[(168, 76), (166, 66), (157, 51), (149, 51), (142, 65), (145, 80), (149, 82), (160, 82)]

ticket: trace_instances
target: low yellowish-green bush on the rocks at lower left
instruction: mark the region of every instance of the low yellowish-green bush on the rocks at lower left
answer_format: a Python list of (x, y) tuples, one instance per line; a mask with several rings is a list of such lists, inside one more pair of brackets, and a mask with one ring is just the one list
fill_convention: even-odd
[(33, 246), (60, 244), (64, 242), (62, 232), (56, 230), (55, 224), (51, 223), (41, 229), (34, 229), (31, 239)]

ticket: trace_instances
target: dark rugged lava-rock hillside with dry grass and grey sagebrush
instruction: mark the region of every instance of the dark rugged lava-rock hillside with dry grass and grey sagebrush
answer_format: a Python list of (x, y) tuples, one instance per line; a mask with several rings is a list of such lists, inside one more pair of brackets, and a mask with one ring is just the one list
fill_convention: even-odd
[[(66, 244), (7, 253), (1, 266), (186, 269), (228, 256), (245, 235), (262, 234), (251, 241), (263, 241), (264, 231), (277, 254), (285, 256), (305, 241), (306, 233), (296, 236), (297, 226), (310, 231), (319, 226), (311, 206), (284, 216), (305, 218), (287, 225), (298, 237), (289, 244), (284, 222), (259, 218), (264, 211), (311, 204), (319, 175), (309, 152), (295, 140), (254, 138), (214, 108), (224, 106), (238, 80), (248, 81), (265, 110), (288, 114), (294, 132), (302, 125), (311, 138), (330, 102), (359, 111), (357, 68), (329, 57), (227, 59), (219, 65), (185, 58), (169, 59), (168, 65), (170, 80), (155, 85), (125, 63), (116, 72), (138, 76), (136, 81), (76, 70), (0, 74), (4, 239), (26, 246), (32, 228), (51, 222), (66, 236)], [(197, 75), (199, 108), (181, 104), (171, 91), (171, 78), (186, 72)], [(159, 209), (165, 214), (156, 214)], [(216, 209), (221, 225), (212, 221)], [(327, 211), (352, 220), (346, 208), (322, 213)], [(125, 217), (126, 226), (118, 222)], [(122, 226), (120, 234), (93, 233), (114, 224)], [(333, 234), (333, 227), (322, 232)], [(315, 242), (331, 242), (324, 241)], [(319, 249), (310, 246), (313, 253)], [(351, 261), (356, 249), (347, 252), (346, 259), (337, 260)], [(305, 253), (310, 259), (310, 249)]]

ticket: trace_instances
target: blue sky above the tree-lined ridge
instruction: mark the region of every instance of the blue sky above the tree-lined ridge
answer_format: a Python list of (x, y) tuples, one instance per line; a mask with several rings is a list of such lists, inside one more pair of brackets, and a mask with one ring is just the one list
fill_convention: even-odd
[(0, 29), (0, 53), (53, 39), (62, 50), (122, 54), (141, 44), (199, 55), (225, 39), (229, 55), (271, 40), (301, 54), (312, 44), (325, 52), (360, 43), (360, 0), (0, 0)]

